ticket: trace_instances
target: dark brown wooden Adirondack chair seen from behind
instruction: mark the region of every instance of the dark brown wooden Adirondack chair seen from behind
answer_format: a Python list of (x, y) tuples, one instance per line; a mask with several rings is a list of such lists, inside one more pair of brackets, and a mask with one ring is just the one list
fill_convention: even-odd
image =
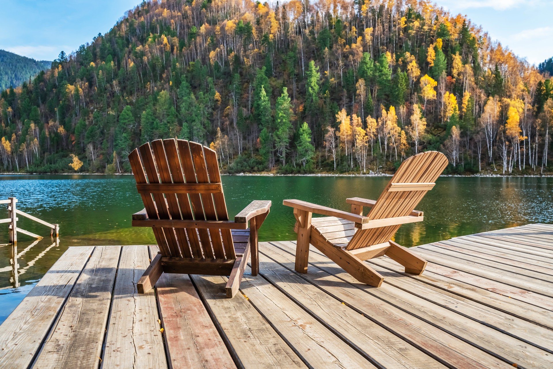
[(160, 250), (138, 282), (139, 293), (152, 289), (161, 273), (208, 274), (229, 276), (231, 298), (250, 255), (257, 275), (257, 232), (271, 202), (252, 201), (229, 221), (215, 151), (158, 139), (134, 149), (129, 162), (145, 206), (132, 225), (152, 227)]

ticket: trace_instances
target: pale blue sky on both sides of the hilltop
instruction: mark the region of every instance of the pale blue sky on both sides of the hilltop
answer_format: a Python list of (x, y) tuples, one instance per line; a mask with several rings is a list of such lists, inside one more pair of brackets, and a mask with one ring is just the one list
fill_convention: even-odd
[[(2, 0), (0, 49), (54, 60), (106, 33), (141, 0)], [(435, 0), (530, 64), (553, 56), (553, 0)]]

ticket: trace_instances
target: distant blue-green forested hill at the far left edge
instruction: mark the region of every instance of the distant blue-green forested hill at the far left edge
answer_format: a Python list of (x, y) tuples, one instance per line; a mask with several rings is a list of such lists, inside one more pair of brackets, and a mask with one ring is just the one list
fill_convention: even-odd
[(19, 86), (36, 76), (41, 70), (48, 69), (51, 65), (51, 61), (34, 60), (6, 50), (0, 50), (0, 90), (6, 90), (11, 86)]

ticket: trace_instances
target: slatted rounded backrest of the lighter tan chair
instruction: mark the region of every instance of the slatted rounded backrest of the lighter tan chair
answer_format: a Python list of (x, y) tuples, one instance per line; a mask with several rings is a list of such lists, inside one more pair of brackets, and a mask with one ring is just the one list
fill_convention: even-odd
[[(447, 167), (447, 163), (445, 155), (436, 151), (419, 153), (405, 159), (369, 211), (369, 219), (410, 215), (426, 192), (433, 187), (434, 181)], [(408, 186), (401, 188), (406, 184)], [(347, 250), (387, 242), (399, 227), (400, 225), (394, 225), (359, 230), (352, 237)]]

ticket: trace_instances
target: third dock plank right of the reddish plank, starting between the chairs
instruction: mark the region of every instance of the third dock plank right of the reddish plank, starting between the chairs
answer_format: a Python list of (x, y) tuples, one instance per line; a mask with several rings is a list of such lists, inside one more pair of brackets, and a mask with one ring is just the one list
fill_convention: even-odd
[[(386, 368), (444, 367), (415, 346), (281, 266), (272, 259), (280, 259), (280, 249), (269, 243), (260, 245), (260, 274), (371, 362)], [(250, 293), (248, 297), (251, 298)]]

